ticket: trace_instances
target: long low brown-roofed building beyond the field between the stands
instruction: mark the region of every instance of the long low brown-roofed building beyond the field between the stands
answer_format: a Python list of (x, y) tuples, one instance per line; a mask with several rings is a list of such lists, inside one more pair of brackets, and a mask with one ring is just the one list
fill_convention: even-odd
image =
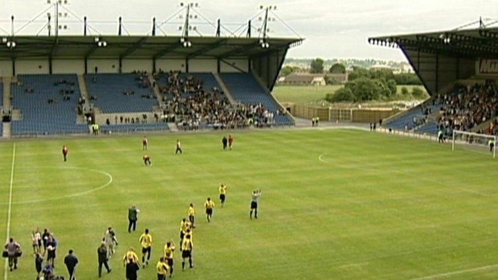
[(332, 80), (334, 84), (343, 84), (347, 82), (347, 73), (345, 74), (310, 74), (310, 73), (291, 73), (286, 77), (280, 77), (279, 85), (286, 86), (326, 86), (327, 79)]

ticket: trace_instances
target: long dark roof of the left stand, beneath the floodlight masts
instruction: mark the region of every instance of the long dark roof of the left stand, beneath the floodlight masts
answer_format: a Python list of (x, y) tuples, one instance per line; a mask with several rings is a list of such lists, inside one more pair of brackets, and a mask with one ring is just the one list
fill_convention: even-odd
[[(180, 36), (14, 36), (2, 43), (15, 42), (14, 48), (0, 48), (0, 60), (19, 58), (235, 58), (257, 57), (300, 44), (301, 38), (266, 38), (262, 48), (258, 38), (188, 37), (191, 47), (180, 43)], [(97, 40), (106, 42), (99, 47)]]

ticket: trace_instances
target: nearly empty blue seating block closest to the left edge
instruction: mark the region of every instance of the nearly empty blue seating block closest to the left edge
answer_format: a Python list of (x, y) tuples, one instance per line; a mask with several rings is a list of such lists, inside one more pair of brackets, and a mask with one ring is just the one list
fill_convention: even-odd
[(11, 85), (12, 107), (21, 111), (22, 119), (11, 122), (12, 135), (88, 132), (87, 125), (76, 123), (80, 97), (76, 75), (18, 75), (17, 80)]

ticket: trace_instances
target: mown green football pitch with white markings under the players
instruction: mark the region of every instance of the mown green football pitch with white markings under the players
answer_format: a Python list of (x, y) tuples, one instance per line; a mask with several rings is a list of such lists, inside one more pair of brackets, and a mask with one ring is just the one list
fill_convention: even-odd
[[(9, 279), (34, 278), (36, 227), (58, 239), (58, 274), (67, 275), (62, 260), (72, 248), (78, 278), (96, 279), (96, 248), (109, 225), (119, 246), (102, 279), (124, 278), (119, 259), (127, 247), (139, 248), (145, 227), (154, 261), (139, 274), (153, 279), (165, 241), (178, 244), (190, 202), (197, 210), (195, 268), (182, 272), (177, 251), (176, 279), (408, 279), (498, 263), (498, 172), (487, 154), (363, 131), (260, 131), (237, 133), (233, 151), (221, 150), (219, 133), (150, 137), (154, 165), (145, 167), (140, 138), (16, 142), (11, 236), (24, 254)], [(177, 138), (182, 156), (172, 155)], [(0, 143), (4, 239), (12, 149), (13, 142)], [(108, 172), (112, 183), (71, 196), (108, 182), (91, 170)], [(208, 224), (202, 203), (208, 196), (218, 202), (220, 182), (229, 187), (227, 204), (217, 203)], [(255, 188), (263, 191), (260, 218), (250, 220)], [(138, 231), (128, 234), (132, 204), (141, 212)], [(496, 278), (498, 267), (451, 276)]]

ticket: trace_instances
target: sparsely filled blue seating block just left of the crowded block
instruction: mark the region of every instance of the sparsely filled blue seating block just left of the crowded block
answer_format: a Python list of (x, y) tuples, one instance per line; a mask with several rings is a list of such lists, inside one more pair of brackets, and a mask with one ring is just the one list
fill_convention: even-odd
[(85, 83), (102, 113), (151, 112), (158, 105), (146, 73), (87, 74)]

